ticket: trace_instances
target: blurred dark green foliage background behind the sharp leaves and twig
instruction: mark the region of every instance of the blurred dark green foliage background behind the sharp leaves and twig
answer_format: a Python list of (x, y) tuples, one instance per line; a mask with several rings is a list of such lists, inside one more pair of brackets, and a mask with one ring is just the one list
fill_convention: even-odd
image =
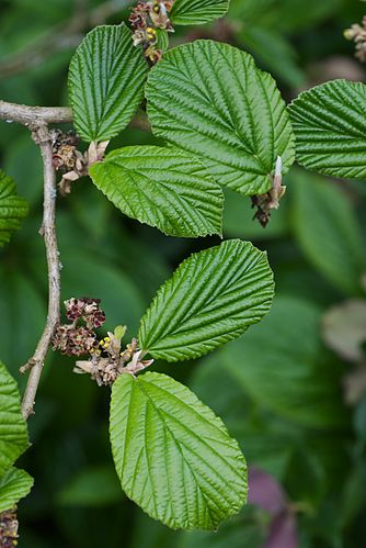
[[(364, 80), (365, 69), (343, 38), (364, 12), (366, 3), (357, 0), (232, 0), (225, 20), (181, 27), (172, 45), (196, 37), (230, 42), (252, 53), (289, 101), (324, 80)], [(95, 23), (126, 18), (122, 0), (1, 0), (0, 98), (67, 104), (68, 63), (83, 34)], [(112, 145), (156, 142), (127, 128)], [(42, 167), (23, 127), (1, 123), (0, 166), (31, 205), (22, 230), (0, 251), (0, 358), (23, 387), (18, 369), (42, 333), (47, 290), (37, 234)], [(206, 359), (155, 366), (196, 391), (239, 439), (249, 466), (281, 484), (277, 510), (253, 505), (216, 534), (170, 532), (151, 521), (118, 487), (108, 390), (73, 374), (72, 360), (52, 356), (30, 420), (33, 446), (19, 463), (35, 477), (19, 510), (20, 547), (365, 546), (366, 182), (295, 167), (286, 184), (266, 230), (252, 222), (249, 199), (226, 197), (225, 237), (250, 239), (268, 253), (276, 280), (268, 316)], [(64, 299), (101, 298), (106, 327), (127, 324), (130, 336), (174, 267), (219, 243), (165, 237), (129, 221), (87, 179), (58, 199), (58, 233)], [(255, 489), (253, 481), (253, 494)], [(275, 544), (281, 514), (296, 530)]]

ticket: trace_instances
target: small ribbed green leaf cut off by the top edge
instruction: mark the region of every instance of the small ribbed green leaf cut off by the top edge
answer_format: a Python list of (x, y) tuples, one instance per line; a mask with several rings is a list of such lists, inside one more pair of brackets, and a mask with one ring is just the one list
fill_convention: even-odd
[(229, 0), (174, 0), (170, 19), (176, 25), (199, 25), (222, 18)]

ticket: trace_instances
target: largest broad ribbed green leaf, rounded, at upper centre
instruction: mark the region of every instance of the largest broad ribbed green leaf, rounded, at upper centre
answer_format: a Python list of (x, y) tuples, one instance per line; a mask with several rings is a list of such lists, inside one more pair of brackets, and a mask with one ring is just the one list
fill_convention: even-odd
[(146, 96), (153, 133), (198, 156), (224, 187), (243, 194), (272, 186), (277, 156), (294, 161), (294, 135), (274, 79), (240, 49), (184, 44), (150, 71)]

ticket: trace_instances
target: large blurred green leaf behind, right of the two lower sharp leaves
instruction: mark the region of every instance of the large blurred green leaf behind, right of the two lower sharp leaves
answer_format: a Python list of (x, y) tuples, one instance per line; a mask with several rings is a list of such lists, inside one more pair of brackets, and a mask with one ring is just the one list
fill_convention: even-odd
[(320, 321), (314, 305), (277, 298), (261, 325), (222, 349), (222, 369), (265, 410), (304, 426), (339, 428), (341, 371), (322, 353)]

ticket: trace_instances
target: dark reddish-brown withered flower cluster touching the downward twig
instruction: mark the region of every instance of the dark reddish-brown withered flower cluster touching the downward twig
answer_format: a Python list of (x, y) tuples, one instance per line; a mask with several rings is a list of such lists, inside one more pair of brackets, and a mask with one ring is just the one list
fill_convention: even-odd
[[(70, 299), (65, 301), (66, 315), (70, 324), (59, 325), (53, 337), (53, 349), (67, 356), (84, 356), (99, 346), (94, 328), (101, 327), (105, 314), (100, 307), (100, 299)], [(79, 321), (85, 325), (77, 325)]]

